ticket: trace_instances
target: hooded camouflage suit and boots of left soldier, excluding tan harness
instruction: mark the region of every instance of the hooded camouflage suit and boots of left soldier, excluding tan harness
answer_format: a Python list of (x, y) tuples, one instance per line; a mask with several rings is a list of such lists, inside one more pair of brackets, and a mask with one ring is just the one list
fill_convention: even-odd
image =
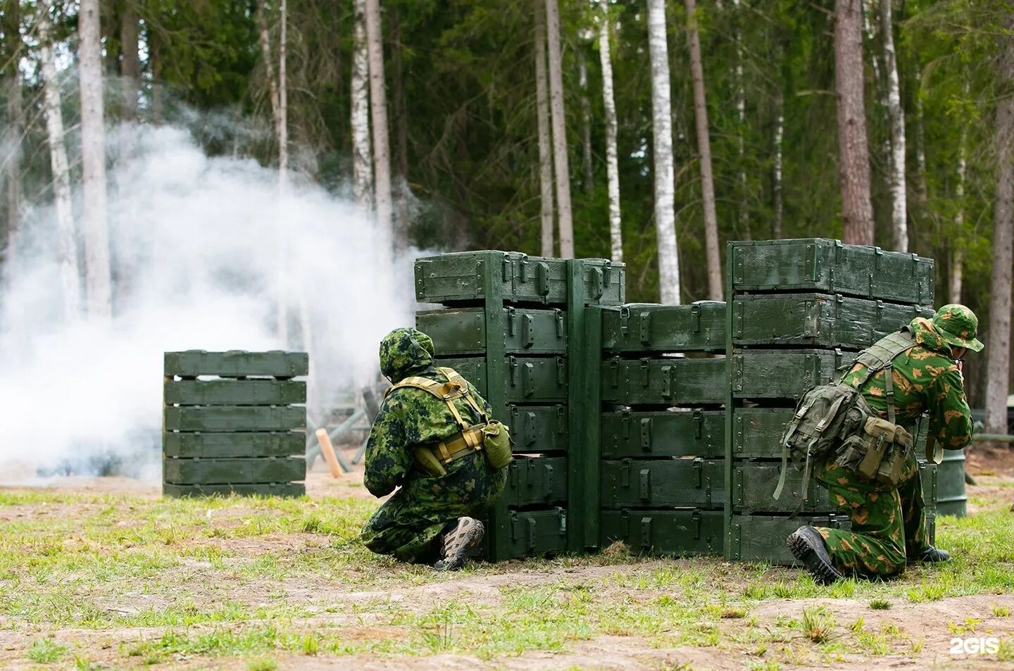
[[(434, 363), (433, 341), (414, 328), (396, 328), (380, 343), (380, 370), (393, 383), (422, 377), (448, 378)], [(492, 407), (468, 384), (472, 397), (487, 417)], [(458, 413), (479, 423), (463, 399), (452, 401)], [(438, 570), (457, 569), (483, 538), (474, 516), (491, 507), (507, 481), (506, 468), (491, 466), (476, 450), (446, 463), (446, 475), (433, 477), (415, 462), (415, 450), (447, 440), (460, 429), (447, 403), (427, 391), (391, 390), (380, 406), (366, 445), (364, 483), (370, 494), (393, 494), (363, 527), (362, 540), (374, 552), (402, 562), (436, 561)]]

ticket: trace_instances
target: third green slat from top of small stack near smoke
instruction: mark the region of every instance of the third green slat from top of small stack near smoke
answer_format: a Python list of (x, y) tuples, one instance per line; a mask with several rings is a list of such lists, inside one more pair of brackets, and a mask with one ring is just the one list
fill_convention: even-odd
[(166, 431), (290, 431), (306, 429), (304, 405), (168, 405)]

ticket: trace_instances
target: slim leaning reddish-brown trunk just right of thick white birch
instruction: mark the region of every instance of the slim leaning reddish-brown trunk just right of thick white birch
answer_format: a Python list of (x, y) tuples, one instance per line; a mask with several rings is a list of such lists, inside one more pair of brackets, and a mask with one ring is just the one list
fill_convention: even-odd
[(708, 103), (704, 90), (704, 66), (701, 63), (701, 35), (697, 29), (697, 2), (684, 0), (686, 30), (691, 46), (691, 73), (694, 77), (694, 117), (697, 120), (698, 152), (701, 154), (701, 193), (704, 201), (704, 239), (708, 263), (708, 298), (720, 301), (722, 262), (718, 255), (718, 215), (715, 212), (715, 178), (711, 170), (711, 140), (708, 136)]

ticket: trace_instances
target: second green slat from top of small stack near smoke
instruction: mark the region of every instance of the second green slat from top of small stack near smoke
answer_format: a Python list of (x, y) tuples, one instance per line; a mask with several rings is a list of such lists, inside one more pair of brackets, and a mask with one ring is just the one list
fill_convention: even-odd
[(306, 402), (306, 382), (280, 380), (166, 380), (166, 405), (290, 405)]

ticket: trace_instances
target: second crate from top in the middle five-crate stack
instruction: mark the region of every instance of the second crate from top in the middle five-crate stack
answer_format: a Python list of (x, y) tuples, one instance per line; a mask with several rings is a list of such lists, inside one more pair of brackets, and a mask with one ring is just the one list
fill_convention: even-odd
[(723, 359), (620, 359), (602, 362), (602, 401), (698, 405), (725, 401)]

